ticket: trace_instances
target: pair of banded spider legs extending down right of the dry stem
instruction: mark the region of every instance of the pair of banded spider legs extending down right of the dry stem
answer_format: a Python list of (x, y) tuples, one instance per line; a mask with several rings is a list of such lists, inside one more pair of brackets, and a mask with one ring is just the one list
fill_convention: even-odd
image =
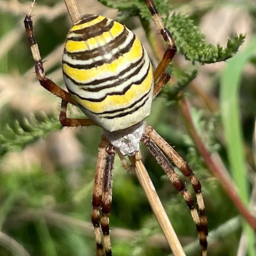
[[(159, 165), (168, 175), (175, 189), (177, 189), (183, 195), (186, 201), (186, 204), (189, 207), (191, 216), (196, 224), (197, 231), (199, 234), (199, 242), (202, 246), (202, 255), (205, 256), (207, 253), (208, 222), (207, 222), (207, 217), (205, 215), (204, 203), (202, 199), (201, 184), (198, 181), (198, 179), (195, 177), (191, 168), (189, 168), (188, 164), (182, 159), (181, 156), (179, 156), (174, 151), (173, 148), (171, 148), (168, 145), (166, 141), (164, 143), (163, 142), (164, 140), (163, 139), (161, 140), (162, 137), (158, 135), (155, 132), (155, 130), (153, 130), (153, 128), (147, 126), (145, 133), (147, 135), (142, 136), (141, 138), (142, 143), (146, 145), (146, 147), (149, 149), (151, 154), (155, 157), (156, 161), (159, 163)], [(179, 175), (175, 173), (175, 170), (171, 165), (171, 163), (168, 161), (167, 157), (162, 153), (160, 148), (158, 148), (155, 143), (171, 158), (171, 160), (175, 163), (175, 165), (178, 168), (180, 168), (183, 175), (185, 175), (186, 177), (189, 177), (189, 179), (191, 180), (193, 189), (196, 194), (196, 199), (197, 199), (198, 208), (199, 208), (199, 215), (195, 207), (195, 202), (193, 200), (191, 193), (186, 189), (184, 183), (180, 179)], [(163, 144), (165, 144), (165, 148), (162, 146)], [(172, 152), (171, 154), (170, 153), (168, 154), (166, 152), (168, 151), (167, 148), (171, 148), (169, 149), (169, 151)]]

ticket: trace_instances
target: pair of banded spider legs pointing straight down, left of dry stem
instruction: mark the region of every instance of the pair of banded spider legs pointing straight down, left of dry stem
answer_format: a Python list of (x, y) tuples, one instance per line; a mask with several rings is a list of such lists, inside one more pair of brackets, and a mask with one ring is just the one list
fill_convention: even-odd
[[(106, 137), (102, 136), (94, 179), (93, 210), (91, 214), (92, 223), (94, 225), (97, 256), (104, 255), (101, 230), (103, 233), (106, 256), (112, 255), (108, 215), (112, 203), (112, 170), (114, 166), (114, 158), (115, 148), (110, 144)], [(100, 216), (100, 210), (102, 216)]]

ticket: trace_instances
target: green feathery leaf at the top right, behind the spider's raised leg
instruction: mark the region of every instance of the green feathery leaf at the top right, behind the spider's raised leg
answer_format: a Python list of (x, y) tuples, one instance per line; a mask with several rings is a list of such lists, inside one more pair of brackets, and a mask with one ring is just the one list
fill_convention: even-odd
[[(149, 27), (147, 22), (152, 22), (152, 16), (144, 1), (100, 0), (100, 2), (108, 7), (120, 10), (122, 19), (138, 15), (147, 32)], [(160, 15), (165, 17), (163, 18), (163, 22), (166, 28), (173, 34), (178, 52), (183, 54), (187, 60), (192, 61), (193, 64), (196, 61), (200, 64), (225, 61), (237, 52), (245, 38), (243, 34), (235, 35), (233, 39), (228, 39), (225, 48), (220, 45), (215, 47), (205, 41), (204, 34), (200, 32), (199, 28), (195, 26), (194, 21), (189, 16), (182, 13), (173, 13), (170, 16), (169, 13), (172, 7), (167, 0), (155, 0), (155, 5)]]

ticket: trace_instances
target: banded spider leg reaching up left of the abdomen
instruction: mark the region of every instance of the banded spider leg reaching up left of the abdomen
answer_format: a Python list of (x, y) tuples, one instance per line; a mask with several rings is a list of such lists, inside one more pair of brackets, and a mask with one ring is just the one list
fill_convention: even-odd
[(65, 101), (72, 103), (73, 105), (76, 105), (71, 95), (67, 91), (57, 86), (53, 81), (45, 76), (43, 62), (40, 56), (38, 44), (34, 37), (33, 22), (31, 20), (31, 11), (34, 7), (34, 4), (35, 0), (33, 0), (31, 3), (29, 13), (26, 15), (24, 20), (24, 25), (27, 33), (27, 39), (34, 59), (34, 67), (37, 79), (40, 82), (41, 86), (46, 88), (49, 92), (53, 93), (54, 95), (60, 97)]

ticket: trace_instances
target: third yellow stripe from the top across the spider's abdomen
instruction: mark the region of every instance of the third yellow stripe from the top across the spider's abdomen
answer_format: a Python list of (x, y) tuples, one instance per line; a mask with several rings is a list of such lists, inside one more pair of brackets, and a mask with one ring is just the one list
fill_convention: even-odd
[(139, 59), (141, 55), (141, 42), (135, 38), (131, 50), (109, 64), (103, 64), (102, 66), (93, 67), (91, 69), (77, 69), (69, 67), (67, 64), (63, 64), (62, 67), (64, 72), (75, 81), (87, 82), (88, 80), (101, 78), (101, 74), (112, 73), (111, 75), (115, 75), (117, 69), (120, 69), (120, 67), (126, 67), (128, 63), (132, 63), (132, 61)]

